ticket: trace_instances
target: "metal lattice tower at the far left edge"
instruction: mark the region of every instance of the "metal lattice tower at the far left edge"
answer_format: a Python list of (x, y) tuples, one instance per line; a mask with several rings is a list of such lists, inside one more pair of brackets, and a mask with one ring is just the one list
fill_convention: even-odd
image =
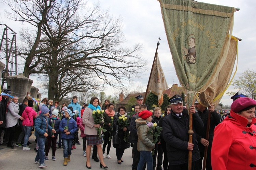
[[(16, 45), (16, 32), (14, 32), (10, 27), (6, 24), (3, 30), (3, 35), (0, 44), (0, 52), (5, 52), (4, 56), (1, 56), (1, 60), (6, 58), (6, 66), (5, 70), (2, 71), (2, 85), (3, 88), (4, 82), (6, 82), (6, 77), (9, 75), (17, 75), (17, 45)], [(8, 38), (8, 30), (11, 31), (12, 39)], [(3, 47), (2, 47), (3, 46)], [(15, 60), (15, 61), (14, 61)], [(13, 66), (14, 65), (14, 66)]]

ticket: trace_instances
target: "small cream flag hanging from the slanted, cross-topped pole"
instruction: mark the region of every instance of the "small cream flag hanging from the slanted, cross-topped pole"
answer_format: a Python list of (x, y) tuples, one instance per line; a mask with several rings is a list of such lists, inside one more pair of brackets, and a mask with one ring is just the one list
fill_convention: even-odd
[(158, 97), (158, 106), (163, 104), (162, 92), (168, 88), (165, 74), (163, 73), (162, 66), (160, 64), (158, 53), (156, 53), (156, 60), (151, 73), (151, 80), (148, 89)]

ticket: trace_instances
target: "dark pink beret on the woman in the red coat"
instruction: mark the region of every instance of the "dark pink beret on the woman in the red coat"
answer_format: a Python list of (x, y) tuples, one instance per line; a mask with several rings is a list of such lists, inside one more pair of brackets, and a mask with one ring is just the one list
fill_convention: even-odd
[(248, 98), (248, 97), (241, 97), (238, 98), (237, 100), (233, 101), (233, 103), (231, 104), (231, 110), (234, 113), (238, 113), (241, 110), (243, 110), (246, 107), (252, 106), (252, 105), (256, 105), (256, 101)]

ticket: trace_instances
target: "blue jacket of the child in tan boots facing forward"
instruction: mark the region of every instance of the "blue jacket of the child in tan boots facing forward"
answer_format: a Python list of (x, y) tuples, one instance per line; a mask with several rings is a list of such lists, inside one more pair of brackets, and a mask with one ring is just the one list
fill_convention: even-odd
[[(63, 139), (74, 139), (74, 134), (78, 130), (76, 121), (73, 118), (69, 119), (69, 124), (67, 125), (68, 118), (61, 119), (60, 125), (59, 125), (59, 133), (61, 133), (61, 138)], [(66, 135), (66, 132), (64, 131), (65, 126), (68, 126), (68, 132), (70, 132), (69, 135)]]

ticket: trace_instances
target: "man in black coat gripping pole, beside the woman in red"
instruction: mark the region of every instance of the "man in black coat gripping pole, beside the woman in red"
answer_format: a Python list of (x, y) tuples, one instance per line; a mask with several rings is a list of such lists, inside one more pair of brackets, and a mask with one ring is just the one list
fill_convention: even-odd
[[(208, 146), (207, 149), (207, 159), (206, 159), (206, 170), (212, 170), (211, 165), (211, 150), (212, 150), (212, 140), (213, 140), (213, 131), (215, 126), (219, 124), (219, 121), (221, 120), (221, 115), (219, 115), (213, 105), (207, 107), (204, 107), (202, 104), (200, 104), (197, 100), (195, 101), (195, 106), (198, 111), (198, 115), (203, 121), (203, 128), (200, 131), (197, 131), (197, 141), (198, 141), (198, 147), (200, 151), (200, 159), (195, 163), (195, 170), (201, 170), (202, 169), (202, 160), (204, 157), (204, 149), (206, 146)], [(210, 130), (209, 130), (209, 139), (206, 140), (206, 130), (207, 130), (207, 122), (208, 122), (208, 111), (211, 111), (211, 120), (210, 120)]]

